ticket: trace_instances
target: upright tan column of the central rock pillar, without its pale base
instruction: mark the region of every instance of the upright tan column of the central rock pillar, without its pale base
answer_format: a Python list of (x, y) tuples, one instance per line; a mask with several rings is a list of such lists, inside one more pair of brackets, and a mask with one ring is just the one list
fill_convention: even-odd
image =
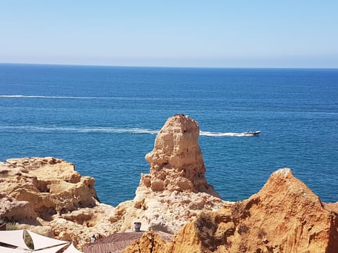
[(141, 186), (219, 197), (204, 177), (206, 168), (198, 140), (199, 124), (194, 119), (187, 115), (170, 117), (156, 136), (154, 150), (146, 155), (150, 174), (142, 175)]

